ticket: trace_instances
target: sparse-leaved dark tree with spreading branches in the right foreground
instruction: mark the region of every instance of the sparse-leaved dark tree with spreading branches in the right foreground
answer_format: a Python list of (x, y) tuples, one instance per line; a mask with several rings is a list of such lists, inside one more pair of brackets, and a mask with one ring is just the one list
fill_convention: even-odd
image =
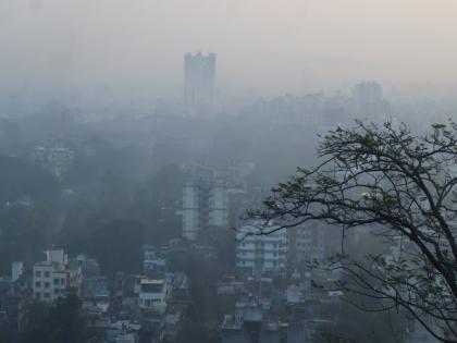
[(356, 260), (343, 248), (325, 264), (342, 271), (337, 286), (382, 305), (363, 309), (404, 308), (435, 339), (457, 342), (457, 124), (415, 135), (358, 121), (331, 131), (318, 151), (320, 166), (298, 169), (250, 216), (275, 230), (310, 220), (370, 230), (390, 254)]

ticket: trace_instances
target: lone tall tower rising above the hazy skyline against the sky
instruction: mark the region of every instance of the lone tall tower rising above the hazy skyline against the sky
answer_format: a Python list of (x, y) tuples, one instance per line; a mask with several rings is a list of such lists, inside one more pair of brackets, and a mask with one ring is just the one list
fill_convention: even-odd
[(215, 53), (184, 56), (184, 101), (187, 115), (208, 112), (215, 95)]

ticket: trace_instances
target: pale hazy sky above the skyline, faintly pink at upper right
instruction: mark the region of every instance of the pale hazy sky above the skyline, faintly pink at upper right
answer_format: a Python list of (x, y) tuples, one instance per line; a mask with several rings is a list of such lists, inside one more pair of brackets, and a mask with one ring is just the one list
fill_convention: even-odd
[(0, 0), (3, 87), (178, 89), (199, 49), (228, 88), (456, 83), (457, 1)]

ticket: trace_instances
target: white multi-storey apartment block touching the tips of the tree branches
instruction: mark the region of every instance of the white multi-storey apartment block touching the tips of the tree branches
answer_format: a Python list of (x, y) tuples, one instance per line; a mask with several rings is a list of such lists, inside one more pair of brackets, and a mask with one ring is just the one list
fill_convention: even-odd
[[(236, 266), (255, 277), (286, 273), (287, 232), (285, 229), (268, 235), (259, 234), (260, 223), (239, 229), (236, 244)], [(267, 231), (277, 226), (269, 225)]]

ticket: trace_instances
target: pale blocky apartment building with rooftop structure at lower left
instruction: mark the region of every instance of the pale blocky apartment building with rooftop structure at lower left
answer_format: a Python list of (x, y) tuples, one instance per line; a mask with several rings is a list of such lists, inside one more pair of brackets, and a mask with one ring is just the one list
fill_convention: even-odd
[(81, 269), (69, 268), (67, 256), (63, 249), (46, 252), (46, 261), (34, 265), (34, 298), (53, 302), (69, 292), (79, 293), (82, 284)]

